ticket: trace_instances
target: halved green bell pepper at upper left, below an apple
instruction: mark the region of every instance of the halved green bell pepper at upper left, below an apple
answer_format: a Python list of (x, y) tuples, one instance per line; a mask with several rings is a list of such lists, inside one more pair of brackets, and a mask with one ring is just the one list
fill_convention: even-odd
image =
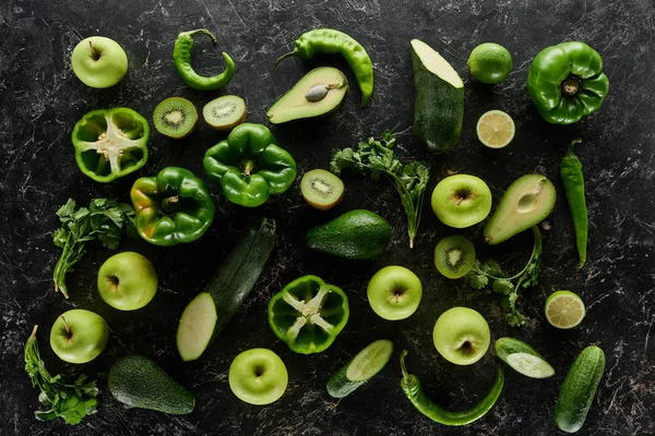
[(150, 126), (128, 108), (93, 110), (73, 128), (71, 141), (83, 173), (108, 183), (147, 162)]

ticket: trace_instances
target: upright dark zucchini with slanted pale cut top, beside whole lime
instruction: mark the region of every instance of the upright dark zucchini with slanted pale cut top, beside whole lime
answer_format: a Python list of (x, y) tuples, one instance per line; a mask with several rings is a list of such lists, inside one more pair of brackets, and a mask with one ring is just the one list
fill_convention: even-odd
[(464, 83), (445, 59), (412, 39), (414, 134), (431, 154), (450, 152), (462, 134)]

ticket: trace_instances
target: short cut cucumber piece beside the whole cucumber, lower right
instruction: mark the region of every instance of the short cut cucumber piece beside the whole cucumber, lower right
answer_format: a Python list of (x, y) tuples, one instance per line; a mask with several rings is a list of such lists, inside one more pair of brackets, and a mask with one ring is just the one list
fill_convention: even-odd
[(514, 338), (500, 338), (496, 341), (496, 355), (512, 370), (532, 378), (547, 378), (555, 370), (541, 354), (527, 343)]

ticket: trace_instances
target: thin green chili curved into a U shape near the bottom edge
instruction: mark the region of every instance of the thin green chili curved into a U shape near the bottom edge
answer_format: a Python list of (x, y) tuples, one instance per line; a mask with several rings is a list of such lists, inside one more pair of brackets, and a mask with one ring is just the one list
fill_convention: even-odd
[(401, 387), (405, 392), (405, 396), (412, 401), (412, 404), (424, 415), (430, 420), (443, 424), (443, 425), (466, 425), (483, 417), (492, 407), (496, 404), (496, 400), (500, 397), (502, 387), (504, 385), (504, 374), (502, 368), (498, 367), (498, 374), (496, 375), (496, 382), (491, 387), (491, 390), (483, 400), (475, 405), (473, 409), (465, 410), (462, 412), (451, 412), (442, 409), (439, 404), (430, 400), (428, 396), (421, 390), (420, 382), (418, 378), (407, 373), (405, 368), (405, 356), (407, 350), (401, 353), (401, 368), (403, 370), (403, 379), (401, 380)]

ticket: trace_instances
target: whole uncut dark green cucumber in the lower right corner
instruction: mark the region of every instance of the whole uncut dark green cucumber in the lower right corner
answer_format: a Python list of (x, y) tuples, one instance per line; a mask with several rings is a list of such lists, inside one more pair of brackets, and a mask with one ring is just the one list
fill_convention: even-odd
[(555, 407), (555, 423), (562, 432), (575, 433), (582, 427), (604, 371), (605, 353), (596, 346), (575, 358)]

